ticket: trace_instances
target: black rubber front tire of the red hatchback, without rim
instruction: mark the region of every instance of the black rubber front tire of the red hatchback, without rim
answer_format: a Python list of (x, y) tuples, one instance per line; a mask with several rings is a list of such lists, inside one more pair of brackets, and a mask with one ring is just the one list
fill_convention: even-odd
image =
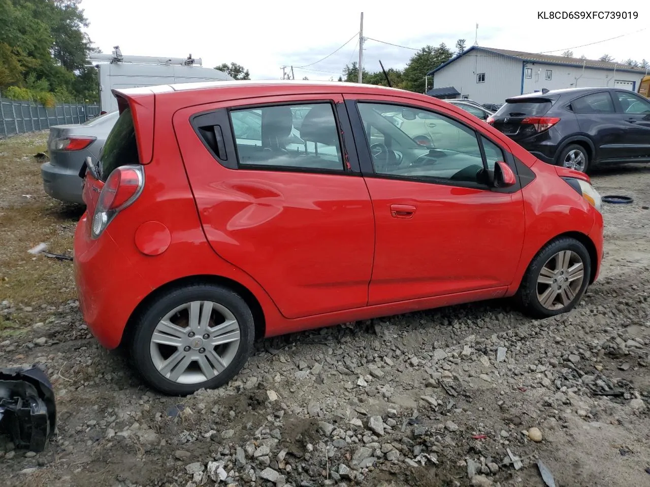
[[(579, 288), (575, 292), (575, 296), (567, 305), (558, 307), (556, 309), (549, 309), (547, 306), (542, 305), (539, 300), (538, 292), (547, 288), (544, 286), (552, 287), (551, 284), (540, 284), (538, 278), (544, 266), (551, 263), (551, 258), (558, 255), (562, 251), (571, 251), (575, 253), (580, 260), (582, 260), (584, 275)], [(573, 256), (572, 256), (573, 257)], [(566, 313), (572, 310), (577, 303), (580, 302), (584, 295), (591, 278), (591, 258), (589, 252), (584, 245), (575, 238), (562, 237), (552, 242), (547, 243), (533, 258), (532, 262), (528, 265), (526, 273), (524, 274), (519, 290), (515, 295), (522, 311), (532, 318), (549, 318), (549, 316), (556, 316), (558, 314)], [(575, 286), (577, 288), (577, 286)], [(555, 288), (554, 288), (555, 290)], [(542, 293), (542, 297), (543, 297)], [(558, 293), (558, 299), (562, 299), (562, 293)], [(560, 305), (560, 303), (558, 303)]]

